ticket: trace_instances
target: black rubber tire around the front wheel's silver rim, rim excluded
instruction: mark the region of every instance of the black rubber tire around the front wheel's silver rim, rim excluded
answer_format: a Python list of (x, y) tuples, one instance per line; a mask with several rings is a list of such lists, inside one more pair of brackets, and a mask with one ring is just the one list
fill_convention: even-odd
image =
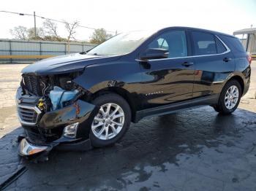
[[(131, 122), (131, 110), (129, 108), (129, 104), (127, 104), (127, 101), (125, 101), (124, 98), (122, 98), (120, 95), (117, 95), (115, 93), (106, 93), (104, 95), (99, 95), (99, 97), (95, 98), (94, 101), (92, 101), (92, 104), (96, 106), (102, 106), (108, 103), (118, 104), (118, 106), (121, 106), (121, 109), (123, 109), (124, 111), (124, 126), (117, 136), (108, 140), (101, 140), (94, 136), (94, 133), (92, 132), (90, 126), (90, 139), (93, 147), (106, 147), (115, 144), (116, 141), (120, 140), (124, 136), (129, 128), (129, 124)], [(91, 121), (91, 123), (92, 122), (93, 120)]]

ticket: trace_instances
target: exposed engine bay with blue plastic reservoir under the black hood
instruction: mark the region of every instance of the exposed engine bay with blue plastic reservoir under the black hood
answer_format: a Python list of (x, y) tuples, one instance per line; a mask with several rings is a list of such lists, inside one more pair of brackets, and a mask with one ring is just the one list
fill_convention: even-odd
[(72, 79), (79, 75), (80, 72), (46, 77), (23, 74), (20, 86), (25, 95), (35, 95), (39, 98), (37, 107), (42, 112), (50, 112), (74, 103), (86, 93), (72, 82)]

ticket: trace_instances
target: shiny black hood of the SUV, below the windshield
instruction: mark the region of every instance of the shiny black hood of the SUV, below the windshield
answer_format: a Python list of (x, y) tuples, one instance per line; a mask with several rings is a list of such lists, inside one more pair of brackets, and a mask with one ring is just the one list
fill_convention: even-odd
[(116, 61), (118, 58), (120, 56), (81, 55), (80, 53), (61, 55), (26, 66), (21, 73), (35, 74), (38, 76), (64, 74), (83, 70), (91, 64)]

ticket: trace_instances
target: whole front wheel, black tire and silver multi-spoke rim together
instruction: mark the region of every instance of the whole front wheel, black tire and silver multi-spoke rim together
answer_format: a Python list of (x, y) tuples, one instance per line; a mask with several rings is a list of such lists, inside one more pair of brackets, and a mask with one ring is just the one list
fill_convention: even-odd
[[(127, 104), (127, 101), (125, 101), (124, 98), (115, 93), (99, 95), (99, 97), (92, 101), (92, 104), (99, 106), (100, 108), (99, 112), (94, 116), (94, 120), (91, 122), (90, 139), (92, 146), (106, 147), (115, 144), (116, 141), (119, 141), (124, 136), (129, 128), (131, 122), (131, 109), (129, 108), (129, 104)], [(108, 112), (109, 106), (110, 112)], [(118, 108), (118, 106), (120, 108)], [(111, 117), (116, 109), (118, 109), (116, 114)], [(124, 115), (124, 117), (122, 117), (122, 115)], [(114, 119), (114, 117), (117, 116), (121, 117)], [(123, 124), (122, 127), (121, 125), (116, 125), (116, 122), (118, 124)], [(115, 132), (113, 127), (116, 129)], [(106, 136), (107, 132), (108, 136)]]

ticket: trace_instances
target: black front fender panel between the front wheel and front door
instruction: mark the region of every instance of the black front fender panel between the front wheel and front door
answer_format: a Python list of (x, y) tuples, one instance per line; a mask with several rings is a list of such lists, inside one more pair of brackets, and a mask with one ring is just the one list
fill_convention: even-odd
[(142, 108), (142, 74), (140, 65), (132, 59), (124, 58), (88, 66), (83, 74), (73, 79), (73, 82), (92, 94), (99, 90), (116, 90), (116, 93), (124, 96), (133, 109)]

